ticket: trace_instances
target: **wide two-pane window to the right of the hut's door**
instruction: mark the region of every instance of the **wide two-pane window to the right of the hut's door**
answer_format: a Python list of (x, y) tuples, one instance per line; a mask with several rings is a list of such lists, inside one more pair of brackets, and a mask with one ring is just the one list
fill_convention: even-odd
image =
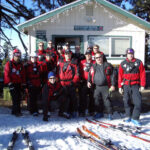
[(131, 45), (131, 37), (121, 36), (88, 36), (88, 45), (93, 46), (95, 44), (100, 46), (100, 51), (108, 57), (122, 57), (125, 56), (125, 50)]

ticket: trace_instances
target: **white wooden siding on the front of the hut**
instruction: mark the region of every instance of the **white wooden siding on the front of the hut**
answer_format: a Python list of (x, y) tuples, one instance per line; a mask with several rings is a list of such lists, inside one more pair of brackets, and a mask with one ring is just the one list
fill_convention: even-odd
[[(87, 4), (79, 5), (67, 10), (59, 15), (47, 19), (44, 22), (37, 23), (29, 27), (29, 35), (31, 36), (31, 50), (35, 50), (35, 32), (36, 30), (46, 30), (47, 40), (52, 39), (52, 35), (84, 35), (84, 50), (87, 48), (88, 35), (106, 35), (106, 36), (131, 36), (132, 47), (135, 49), (135, 56), (144, 61), (145, 53), (145, 31), (135, 25), (125, 16), (116, 13), (115, 11), (106, 8), (100, 4), (93, 4), (93, 18), (96, 22), (88, 22), (86, 16)], [(74, 25), (87, 26), (103, 26), (103, 31), (74, 31)], [(110, 58), (111, 59), (111, 58)], [(120, 63), (121, 60), (113, 60), (115, 63)]]

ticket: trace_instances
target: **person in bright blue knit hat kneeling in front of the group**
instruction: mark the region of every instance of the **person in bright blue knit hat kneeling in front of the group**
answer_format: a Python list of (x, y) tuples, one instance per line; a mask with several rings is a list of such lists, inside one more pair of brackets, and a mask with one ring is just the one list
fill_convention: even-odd
[(43, 121), (48, 121), (48, 111), (54, 111), (61, 107), (62, 100), (62, 87), (60, 82), (56, 82), (56, 75), (54, 72), (48, 73), (48, 81), (42, 90), (43, 101)]

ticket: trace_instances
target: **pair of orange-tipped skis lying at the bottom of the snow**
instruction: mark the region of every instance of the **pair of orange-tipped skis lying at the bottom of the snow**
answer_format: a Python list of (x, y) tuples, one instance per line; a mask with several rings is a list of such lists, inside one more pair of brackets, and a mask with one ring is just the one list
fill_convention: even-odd
[(96, 147), (97, 149), (103, 149), (103, 150), (127, 150), (124, 146), (116, 146), (114, 145), (111, 140), (109, 139), (103, 139), (93, 131), (89, 130), (86, 126), (82, 126), (83, 132), (81, 129), (77, 128), (77, 132), (79, 133), (80, 137), (79, 139), (87, 139), (90, 143), (89, 145), (92, 145)]

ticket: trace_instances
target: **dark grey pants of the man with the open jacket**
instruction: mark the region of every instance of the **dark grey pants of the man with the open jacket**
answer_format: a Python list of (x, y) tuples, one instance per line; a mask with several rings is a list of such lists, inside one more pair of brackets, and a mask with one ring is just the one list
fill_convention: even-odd
[(96, 86), (94, 90), (95, 112), (103, 113), (104, 107), (108, 114), (112, 114), (112, 106), (109, 97), (108, 86)]

